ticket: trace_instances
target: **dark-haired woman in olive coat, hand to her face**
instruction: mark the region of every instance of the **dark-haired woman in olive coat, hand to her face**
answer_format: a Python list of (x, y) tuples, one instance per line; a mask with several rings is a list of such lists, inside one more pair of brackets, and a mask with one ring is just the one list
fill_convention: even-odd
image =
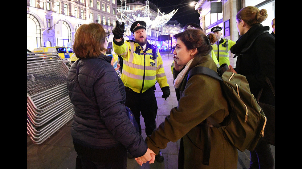
[[(210, 159), (208, 165), (203, 164), (207, 138), (203, 121), (211, 116), (217, 123), (221, 123), (229, 114), (220, 83), (206, 75), (193, 75), (187, 82), (188, 72), (193, 67), (203, 66), (217, 70), (209, 55), (212, 50), (210, 43), (217, 39), (214, 34), (207, 37), (198, 29), (187, 29), (174, 35), (174, 38), (175, 61), (178, 65), (186, 65), (174, 81), (174, 87), (180, 90), (180, 99), (178, 106), (171, 109), (165, 121), (152, 135), (146, 137), (148, 148), (156, 154), (160, 149), (166, 148), (168, 142), (181, 139), (179, 169), (236, 169), (237, 149), (209, 122)], [(142, 163), (140, 158), (137, 158), (137, 162)]]

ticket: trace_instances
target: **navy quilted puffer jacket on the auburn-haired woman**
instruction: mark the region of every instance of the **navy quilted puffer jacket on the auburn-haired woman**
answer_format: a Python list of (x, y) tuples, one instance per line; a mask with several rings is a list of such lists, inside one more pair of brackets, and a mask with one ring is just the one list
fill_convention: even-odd
[(102, 54), (78, 60), (69, 69), (67, 89), (75, 110), (71, 136), (85, 147), (112, 148), (121, 143), (134, 157), (143, 156), (147, 144), (127, 117), (124, 84), (110, 61)]

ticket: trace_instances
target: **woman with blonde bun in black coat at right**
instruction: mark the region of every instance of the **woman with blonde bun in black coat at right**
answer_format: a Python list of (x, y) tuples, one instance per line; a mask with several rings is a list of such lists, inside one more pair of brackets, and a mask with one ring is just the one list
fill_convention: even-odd
[[(267, 10), (259, 10), (254, 6), (239, 10), (236, 22), (241, 37), (231, 47), (231, 52), (238, 59), (236, 68), (233, 69), (230, 65), (230, 69), (246, 76), (255, 98), (263, 89), (259, 102), (275, 106), (275, 96), (266, 82), (267, 77), (275, 88), (275, 37), (269, 33), (269, 26), (260, 24), (267, 16)], [(269, 120), (268, 118), (267, 121)], [(264, 131), (264, 136), (265, 132), (267, 130)], [(273, 168), (274, 158), (270, 144), (261, 137), (255, 150), (251, 151), (250, 169)]]

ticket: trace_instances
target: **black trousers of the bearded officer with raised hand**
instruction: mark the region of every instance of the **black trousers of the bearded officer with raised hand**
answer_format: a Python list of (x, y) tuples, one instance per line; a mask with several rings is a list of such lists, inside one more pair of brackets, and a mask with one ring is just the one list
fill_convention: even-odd
[(134, 114), (135, 120), (139, 126), (141, 134), (140, 116), (144, 118), (147, 136), (151, 135), (156, 128), (155, 118), (157, 114), (157, 101), (154, 90), (152, 88), (144, 93), (136, 93), (129, 87), (126, 90), (126, 106), (129, 107)]

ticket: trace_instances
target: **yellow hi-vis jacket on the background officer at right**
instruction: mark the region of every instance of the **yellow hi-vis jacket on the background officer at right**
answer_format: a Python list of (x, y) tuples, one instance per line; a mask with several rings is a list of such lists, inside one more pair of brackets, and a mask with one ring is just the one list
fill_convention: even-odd
[(218, 46), (217, 44), (213, 44), (212, 47), (214, 49), (214, 53), (217, 57), (219, 65), (222, 65), (223, 63), (227, 63), (227, 65), (230, 65), (229, 50), (234, 44), (236, 44), (236, 42), (228, 39), (222, 39), (222, 40), (223, 40), (222, 43), (219, 42), (221, 44), (219, 44)]

